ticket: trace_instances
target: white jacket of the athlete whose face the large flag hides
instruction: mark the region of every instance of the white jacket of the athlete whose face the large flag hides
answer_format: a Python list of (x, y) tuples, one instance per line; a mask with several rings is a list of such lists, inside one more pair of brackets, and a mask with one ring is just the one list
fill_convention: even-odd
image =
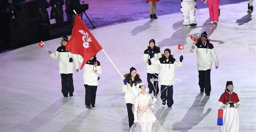
[[(81, 55), (77, 55), (79, 62), (83, 63), (84, 58)], [(98, 86), (98, 75), (101, 74), (100, 62), (96, 60), (95, 57), (93, 60), (89, 60), (84, 65), (84, 84), (89, 86)], [(97, 62), (97, 65), (95, 65)], [(96, 67), (95, 67), (96, 66)], [(95, 73), (94, 70), (97, 70)]]

